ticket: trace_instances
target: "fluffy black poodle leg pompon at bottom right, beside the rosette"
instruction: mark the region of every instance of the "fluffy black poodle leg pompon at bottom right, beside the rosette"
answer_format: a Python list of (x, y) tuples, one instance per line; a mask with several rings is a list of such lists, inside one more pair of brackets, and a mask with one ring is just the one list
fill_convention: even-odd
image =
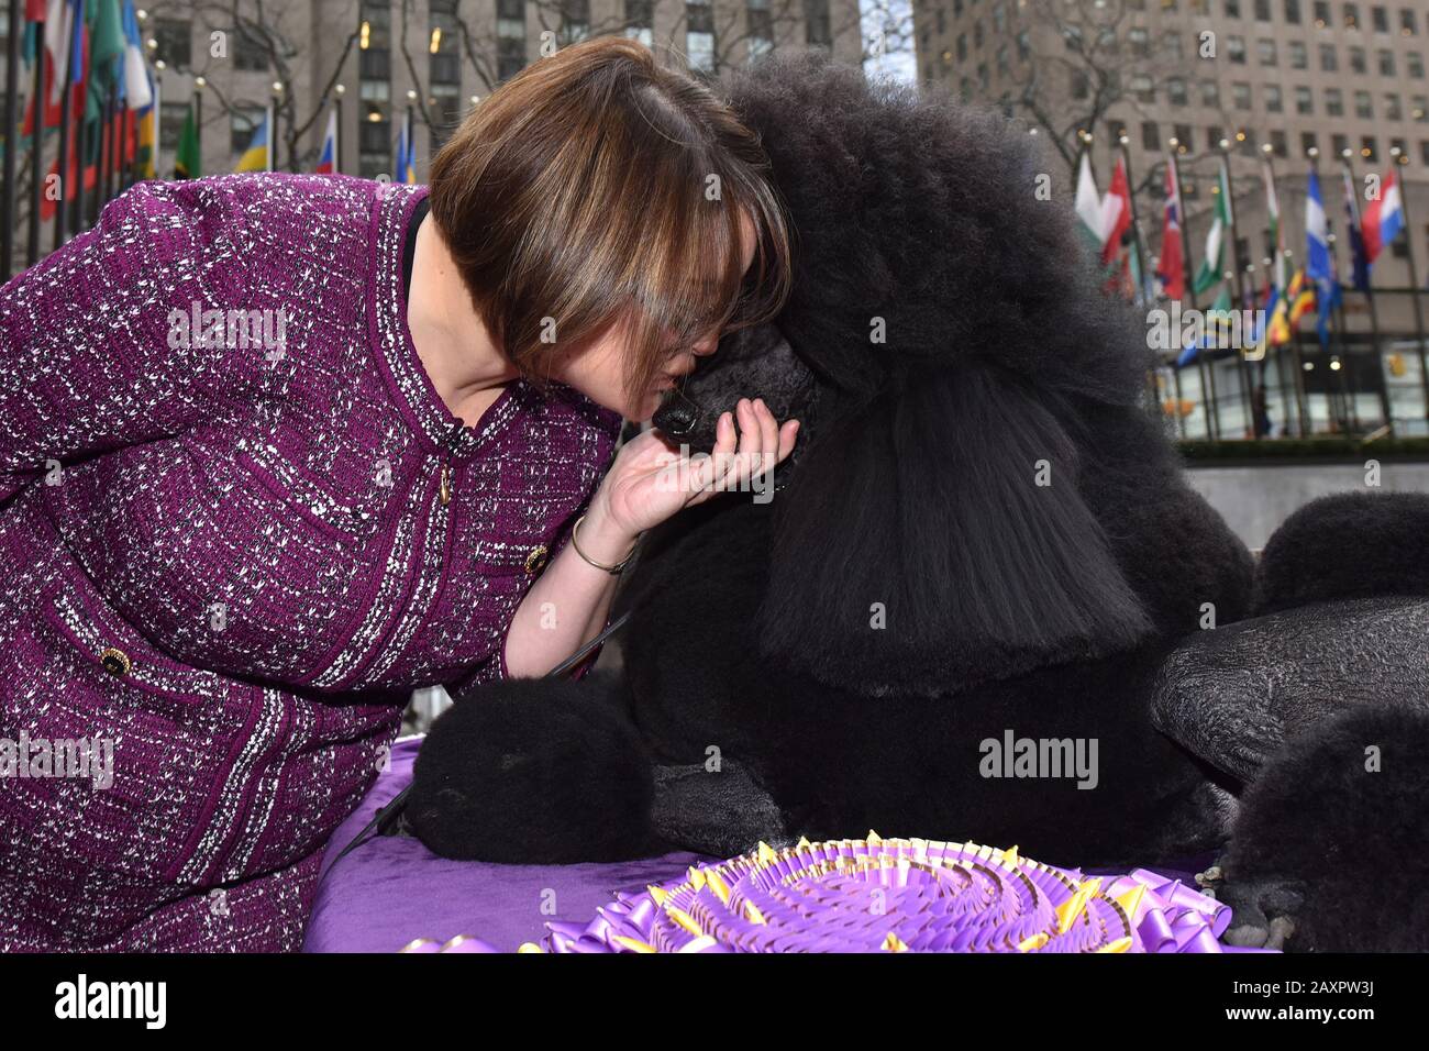
[(1355, 709), (1246, 789), (1216, 897), (1238, 945), (1429, 949), (1429, 708)]

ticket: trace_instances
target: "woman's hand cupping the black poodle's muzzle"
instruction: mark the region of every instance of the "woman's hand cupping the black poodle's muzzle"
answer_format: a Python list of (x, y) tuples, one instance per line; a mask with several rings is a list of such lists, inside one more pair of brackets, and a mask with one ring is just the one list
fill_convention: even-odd
[(726, 412), (716, 423), (709, 455), (686, 458), (657, 430), (639, 435), (620, 448), (592, 498), (580, 529), (582, 551), (594, 546), (587, 538), (602, 536), (600, 551), (589, 551), (590, 556), (619, 562), (643, 531), (717, 492), (740, 489), (783, 462), (797, 432), (799, 420), (780, 426), (763, 399), (742, 398), (735, 413)]

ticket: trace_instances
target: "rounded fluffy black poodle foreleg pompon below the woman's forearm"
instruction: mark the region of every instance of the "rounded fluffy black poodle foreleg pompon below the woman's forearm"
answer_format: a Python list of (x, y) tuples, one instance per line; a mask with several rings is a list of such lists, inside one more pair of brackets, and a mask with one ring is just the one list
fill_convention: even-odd
[(446, 858), (569, 864), (669, 849), (624, 678), (509, 679), (447, 709), (417, 754), (413, 832)]

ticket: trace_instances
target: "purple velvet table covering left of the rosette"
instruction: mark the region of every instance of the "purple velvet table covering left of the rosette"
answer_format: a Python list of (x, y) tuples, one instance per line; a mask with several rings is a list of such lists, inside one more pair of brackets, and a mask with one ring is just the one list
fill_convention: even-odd
[(414, 738), (393, 746), (392, 769), (329, 841), (304, 952), (396, 952), (414, 938), (459, 934), (513, 951), (539, 942), (547, 921), (586, 922), (617, 891), (643, 891), (709, 861), (667, 854), (613, 865), (493, 865), (439, 858), (410, 837), (379, 837), (334, 868), (342, 848), (412, 781), (420, 745)]

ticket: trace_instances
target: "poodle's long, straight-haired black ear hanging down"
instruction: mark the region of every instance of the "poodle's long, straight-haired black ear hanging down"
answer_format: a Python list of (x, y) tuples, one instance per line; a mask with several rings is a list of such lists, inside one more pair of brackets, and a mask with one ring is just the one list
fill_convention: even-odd
[(940, 695), (1149, 636), (1043, 398), (970, 360), (829, 420), (775, 500), (763, 655)]

